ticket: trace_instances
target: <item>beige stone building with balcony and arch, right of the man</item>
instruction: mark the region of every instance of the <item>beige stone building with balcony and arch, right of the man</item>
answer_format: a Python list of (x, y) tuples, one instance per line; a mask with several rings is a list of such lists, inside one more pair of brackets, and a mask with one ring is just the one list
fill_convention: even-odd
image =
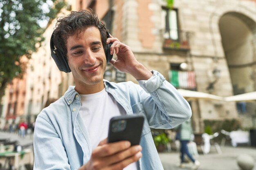
[[(112, 34), (128, 44), (148, 69), (161, 72), (170, 82), (174, 71), (193, 73), (196, 86), (180, 83), (177, 88), (222, 97), (256, 91), (255, 1), (174, 0), (170, 8), (166, 0), (113, 0), (112, 11)], [(185, 71), (179, 68), (181, 63), (187, 64)], [(126, 75), (128, 80), (135, 81)], [(196, 132), (203, 132), (204, 120), (253, 124), (255, 102), (247, 103), (244, 115), (238, 113), (236, 102), (189, 102)]]

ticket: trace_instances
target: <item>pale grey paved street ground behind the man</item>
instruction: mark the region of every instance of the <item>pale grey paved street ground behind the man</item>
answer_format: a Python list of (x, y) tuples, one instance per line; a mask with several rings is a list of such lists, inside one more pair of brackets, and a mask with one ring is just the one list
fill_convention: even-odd
[[(11, 140), (18, 140), (19, 144), (26, 145), (31, 144), (33, 141), (33, 137), (26, 136), (25, 138), (20, 138), (18, 134), (0, 132), (0, 139), (9, 138)], [(256, 160), (256, 147), (250, 146), (224, 146), (221, 147), (222, 154), (218, 154), (214, 148), (211, 148), (211, 152), (207, 155), (200, 154), (196, 159), (200, 161), (201, 166), (198, 170), (240, 170), (237, 165), (237, 157), (242, 154), (248, 154)], [(144, 155), (145, 156), (145, 155)], [(171, 151), (171, 152), (163, 152), (159, 153), (159, 157), (164, 166), (164, 170), (191, 170), (191, 163), (185, 168), (179, 168), (179, 152)], [(254, 168), (256, 170), (256, 161), (254, 161)], [(20, 168), (21, 170), (25, 170), (24, 167)]]

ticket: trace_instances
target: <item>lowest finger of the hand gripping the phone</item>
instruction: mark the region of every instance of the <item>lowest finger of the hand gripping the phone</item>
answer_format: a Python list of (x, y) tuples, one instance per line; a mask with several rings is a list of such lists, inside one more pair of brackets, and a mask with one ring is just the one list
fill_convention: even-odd
[(126, 166), (128, 166), (129, 164), (136, 162), (139, 160), (139, 158), (142, 157), (141, 152), (138, 152), (136, 155), (129, 157), (127, 159), (125, 159), (124, 161), (115, 163), (113, 165), (111, 165), (109, 168), (107, 168), (106, 170), (122, 170), (124, 169)]

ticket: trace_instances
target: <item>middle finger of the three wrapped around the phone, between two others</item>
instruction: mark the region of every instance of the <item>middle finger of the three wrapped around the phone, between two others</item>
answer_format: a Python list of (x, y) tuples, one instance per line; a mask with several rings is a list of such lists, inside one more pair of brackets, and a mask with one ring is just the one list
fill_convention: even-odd
[(118, 163), (120, 161), (124, 161), (125, 159), (128, 159), (128, 158), (136, 155), (141, 150), (142, 150), (142, 148), (139, 145), (132, 146), (132, 147), (130, 147), (122, 152), (118, 152), (115, 155), (112, 155), (110, 157), (104, 157), (104, 161), (106, 161), (109, 165)]

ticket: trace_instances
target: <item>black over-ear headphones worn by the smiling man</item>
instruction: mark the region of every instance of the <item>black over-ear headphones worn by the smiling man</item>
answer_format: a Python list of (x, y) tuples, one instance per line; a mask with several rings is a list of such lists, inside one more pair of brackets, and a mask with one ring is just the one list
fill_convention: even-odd
[[(110, 36), (109, 36), (108, 31), (106, 31), (106, 33), (107, 33), (107, 38), (109, 38)], [(51, 48), (52, 58), (55, 61), (56, 65), (58, 66), (58, 69), (60, 71), (69, 73), (69, 72), (71, 72), (71, 70), (67, 64), (67, 59), (61, 51), (58, 51), (58, 49), (56, 49), (56, 46), (54, 45), (54, 42), (53, 42), (53, 36), (54, 36), (54, 31), (52, 33), (51, 40), (50, 40), (50, 48)], [(105, 55), (106, 55), (107, 63), (110, 62), (110, 60), (113, 57), (113, 55), (110, 54), (110, 46), (111, 45), (112, 45), (112, 43), (110, 42), (109, 44), (106, 44), (106, 47), (105, 47)]]

